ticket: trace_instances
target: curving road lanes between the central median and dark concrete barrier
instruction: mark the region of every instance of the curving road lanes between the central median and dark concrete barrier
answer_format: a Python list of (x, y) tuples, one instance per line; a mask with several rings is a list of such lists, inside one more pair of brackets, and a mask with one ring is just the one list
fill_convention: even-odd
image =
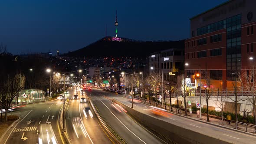
[(128, 144), (165, 144), (140, 124), (130, 118), (124, 109), (102, 97), (102, 90), (85, 90), (102, 117)]

